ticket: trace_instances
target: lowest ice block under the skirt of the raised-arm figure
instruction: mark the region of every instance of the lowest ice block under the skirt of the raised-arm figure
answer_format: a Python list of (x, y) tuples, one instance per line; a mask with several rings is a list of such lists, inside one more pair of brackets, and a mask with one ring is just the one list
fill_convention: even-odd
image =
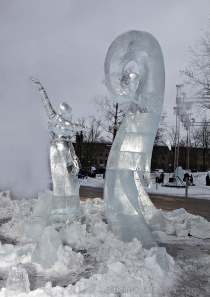
[(52, 210), (48, 220), (48, 226), (52, 225), (56, 230), (65, 226), (79, 214), (79, 196), (53, 196)]

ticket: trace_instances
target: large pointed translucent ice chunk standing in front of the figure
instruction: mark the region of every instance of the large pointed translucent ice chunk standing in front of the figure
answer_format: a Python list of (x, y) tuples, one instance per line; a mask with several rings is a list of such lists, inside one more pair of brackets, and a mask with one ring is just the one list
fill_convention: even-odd
[(57, 251), (60, 246), (63, 247), (59, 233), (52, 226), (46, 227), (31, 255), (32, 262), (51, 268), (58, 259)]

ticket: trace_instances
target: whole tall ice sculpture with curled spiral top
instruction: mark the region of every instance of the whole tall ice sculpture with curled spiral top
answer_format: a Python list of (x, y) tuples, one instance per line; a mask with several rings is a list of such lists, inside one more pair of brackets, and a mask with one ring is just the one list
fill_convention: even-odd
[[(125, 71), (131, 61), (139, 73)], [(154, 247), (150, 228), (164, 229), (165, 219), (143, 182), (151, 184), (151, 156), (164, 97), (164, 61), (157, 40), (143, 31), (119, 35), (106, 54), (105, 81), (113, 99), (127, 108), (106, 165), (108, 230), (124, 242), (137, 238), (143, 247)]]

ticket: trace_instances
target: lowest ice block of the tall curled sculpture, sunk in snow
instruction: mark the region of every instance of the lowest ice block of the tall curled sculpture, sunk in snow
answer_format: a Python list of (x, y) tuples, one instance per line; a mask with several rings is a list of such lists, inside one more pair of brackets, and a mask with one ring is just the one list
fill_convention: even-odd
[(114, 233), (124, 243), (132, 242), (134, 238), (137, 238), (142, 243), (143, 248), (157, 247), (143, 216), (107, 210), (107, 220), (109, 222), (108, 231)]

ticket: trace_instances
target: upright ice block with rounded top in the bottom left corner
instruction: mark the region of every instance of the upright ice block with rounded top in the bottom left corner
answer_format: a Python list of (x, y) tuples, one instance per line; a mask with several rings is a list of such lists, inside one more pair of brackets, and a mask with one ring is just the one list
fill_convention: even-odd
[(9, 276), (6, 280), (6, 289), (4, 292), (5, 297), (14, 297), (17, 294), (29, 293), (30, 284), (28, 273), (24, 267), (19, 263), (11, 266)]

